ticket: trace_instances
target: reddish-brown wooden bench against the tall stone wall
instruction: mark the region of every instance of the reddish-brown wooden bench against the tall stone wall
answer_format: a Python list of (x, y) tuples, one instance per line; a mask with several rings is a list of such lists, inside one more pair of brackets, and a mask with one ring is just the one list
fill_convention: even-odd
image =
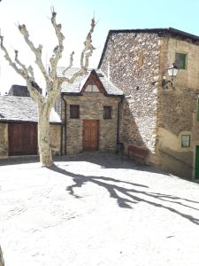
[(146, 157), (149, 155), (149, 150), (142, 147), (128, 145), (127, 154), (130, 159), (135, 160), (137, 163), (145, 163)]

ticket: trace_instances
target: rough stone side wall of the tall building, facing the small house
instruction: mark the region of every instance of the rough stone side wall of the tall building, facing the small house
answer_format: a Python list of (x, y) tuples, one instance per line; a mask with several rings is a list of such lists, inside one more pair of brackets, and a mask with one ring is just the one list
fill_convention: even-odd
[[(148, 33), (112, 34), (101, 69), (123, 90), (121, 141), (155, 153), (160, 38)], [(108, 70), (110, 68), (110, 70)]]

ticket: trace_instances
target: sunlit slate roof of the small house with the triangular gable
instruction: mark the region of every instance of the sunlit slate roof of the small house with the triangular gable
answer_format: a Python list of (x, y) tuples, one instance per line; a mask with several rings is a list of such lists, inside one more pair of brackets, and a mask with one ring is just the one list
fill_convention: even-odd
[[(57, 67), (57, 75), (59, 77), (63, 76), (63, 71), (65, 70), (65, 67), (63, 66), (58, 66)], [(75, 72), (79, 71), (80, 68), (70, 68), (69, 70), (66, 71), (65, 76), (66, 77), (71, 77)], [(61, 90), (63, 93), (66, 94), (72, 94), (72, 95), (80, 95), (80, 90), (83, 88), (84, 83), (88, 80), (89, 74), (94, 69), (89, 69), (88, 74), (81, 75), (75, 79), (73, 83), (67, 83), (64, 82), (62, 84)], [(106, 94), (108, 96), (122, 96), (123, 91), (119, 90), (118, 87), (116, 87), (111, 81), (108, 80), (108, 78), (103, 74), (102, 71), (96, 72), (100, 82), (102, 82), (104, 89), (106, 90)]]

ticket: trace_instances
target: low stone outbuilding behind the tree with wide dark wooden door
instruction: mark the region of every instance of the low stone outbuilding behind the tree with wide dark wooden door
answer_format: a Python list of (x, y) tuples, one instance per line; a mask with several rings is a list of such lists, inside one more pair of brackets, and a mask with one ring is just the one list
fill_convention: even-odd
[[(0, 158), (38, 153), (37, 107), (31, 98), (0, 96)], [(50, 113), (52, 153), (60, 154), (61, 121)]]

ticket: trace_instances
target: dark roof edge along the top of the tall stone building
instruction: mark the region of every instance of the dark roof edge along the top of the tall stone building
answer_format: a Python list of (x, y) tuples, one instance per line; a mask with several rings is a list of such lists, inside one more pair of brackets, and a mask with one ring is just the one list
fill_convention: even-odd
[(112, 34), (120, 34), (120, 33), (148, 33), (148, 34), (157, 34), (157, 35), (172, 35), (174, 37), (180, 37), (182, 39), (189, 39), (194, 43), (199, 43), (199, 36), (197, 35), (192, 35), (187, 32), (181, 31), (179, 29), (173, 28), (173, 27), (158, 27), (158, 28), (136, 28), (136, 29), (111, 29), (106, 37), (106, 41), (103, 47), (103, 53), (101, 56), (101, 59), (99, 61), (98, 68), (102, 65), (103, 62), (103, 56), (105, 54), (107, 44), (109, 41), (109, 38), (111, 37)]

